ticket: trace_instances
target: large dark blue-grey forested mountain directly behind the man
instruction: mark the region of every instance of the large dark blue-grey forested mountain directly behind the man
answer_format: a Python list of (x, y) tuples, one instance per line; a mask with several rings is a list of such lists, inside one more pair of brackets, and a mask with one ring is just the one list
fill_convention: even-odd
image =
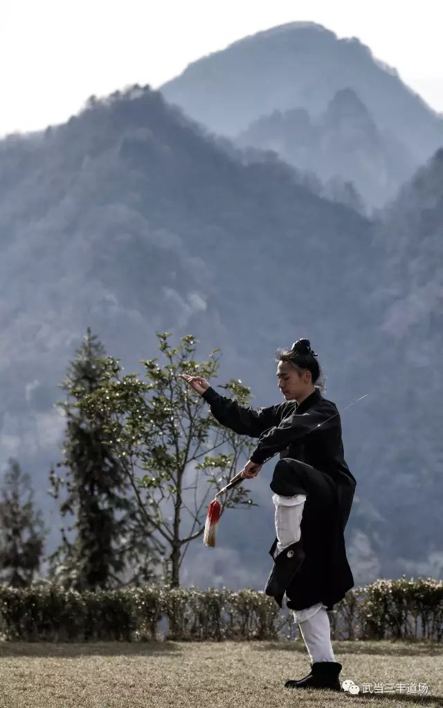
[[(257, 408), (276, 401), (273, 353), (295, 336), (309, 333), (320, 351), (326, 396), (339, 410), (372, 389), (385, 366), (396, 368), (396, 338), (382, 327), (404, 292), (386, 263), (383, 224), (319, 197), (275, 157), (245, 161), (149, 87), (91, 98), (65, 125), (1, 141), (0, 181), (0, 455), (3, 464), (19, 457), (47, 510), (47, 474), (60, 458), (64, 424), (52, 406), (86, 326), (126, 371), (157, 355), (155, 331), (177, 339), (193, 333), (202, 358), (222, 348), (213, 384), (242, 379)], [(393, 263), (399, 247), (391, 244)], [(404, 384), (415, 371), (415, 341), (406, 333), (402, 345), (405, 379), (395, 379), (395, 387), (388, 382), (390, 399), (373, 396), (342, 415), (346, 459), (359, 485), (347, 527), (357, 583), (374, 579), (371, 573), (403, 572), (398, 559), (423, 564), (427, 537), (438, 538), (442, 526), (441, 499), (434, 487), (422, 489), (422, 480), (439, 472), (439, 437), (432, 438), (434, 462), (422, 469), (420, 433), (432, 411), (418, 402), (415, 411), (406, 405), (397, 415), (399, 399), (403, 405), (414, 395)], [(411, 429), (405, 465), (403, 438)], [(254, 484), (261, 506), (247, 510), (247, 520), (230, 515), (218, 552), (190, 549), (186, 583), (204, 587), (220, 559), (225, 584), (260, 586), (266, 579), (272, 464)], [(422, 489), (428, 512), (411, 549), (408, 533), (397, 529), (413, 487), (397, 486), (400, 479)], [(382, 503), (380, 486), (389, 490)], [(383, 523), (374, 526), (374, 518)], [(438, 544), (432, 553), (435, 564)], [(230, 574), (228, 558), (242, 573)]]

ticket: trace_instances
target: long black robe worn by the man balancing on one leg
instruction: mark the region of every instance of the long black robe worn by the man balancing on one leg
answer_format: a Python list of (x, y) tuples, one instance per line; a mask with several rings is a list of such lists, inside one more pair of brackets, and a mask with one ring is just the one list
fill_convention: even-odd
[(354, 587), (344, 547), (344, 529), (357, 485), (344, 461), (337, 406), (323, 398), (318, 388), (300, 405), (292, 400), (258, 410), (240, 406), (213, 387), (206, 389), (203, 399), (223, 426), (238, 435), (259, 438), (250, 456), (252, 462), (263, 464), (279, 452), (280, 459), (298, 459), (335, 482), (335, 501), (329, 513), (319, 518), (318, 514), (310, 513), (308, 498), (305, 502), (301, 533), (306, 557), (286, 589), (287, 606), (293, 610), (303, 610), (319, 602), (332, 610)]

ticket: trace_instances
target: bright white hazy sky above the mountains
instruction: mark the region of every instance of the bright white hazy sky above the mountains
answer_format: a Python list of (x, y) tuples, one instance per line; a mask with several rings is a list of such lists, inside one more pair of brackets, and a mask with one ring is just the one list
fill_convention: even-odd
[(93, 93), (157, 88), (293, 21), (359, 38), (443, 113), (442, 0), (0, 0), (0, 135), (64, 122)]

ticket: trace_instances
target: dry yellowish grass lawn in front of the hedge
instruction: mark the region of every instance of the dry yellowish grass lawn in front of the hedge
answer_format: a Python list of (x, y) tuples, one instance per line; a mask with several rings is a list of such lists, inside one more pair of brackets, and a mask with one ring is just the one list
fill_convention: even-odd
[[(423, 642), (334, 641), (340, 679), (383, 692), (288, 690), (310, 668), (301, 643), (174, 641), (146, 644), (0, 643), (1, 708), (443, 707), (443, 646)], [(425, 694), (388, 684), (427, 684)], [(391, 686), (392, 687), (392, 686)], [(389, 687), (388, 687), (389, 690)]]

